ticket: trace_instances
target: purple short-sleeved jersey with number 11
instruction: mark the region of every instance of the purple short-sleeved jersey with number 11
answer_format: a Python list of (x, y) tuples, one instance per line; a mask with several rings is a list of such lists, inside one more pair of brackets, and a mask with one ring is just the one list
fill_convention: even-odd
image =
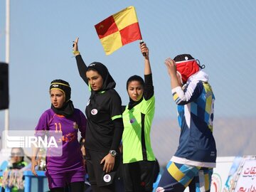
[(49, 109), (41, 115), (36, 131), (62, 131), (63, 151), (62, 156), (47, 156), (46, 169), (48, 171), (82, 171), (82, 151), (78, 142), (78, 129), (82, 138), (85, 138), (87, 119), (85, 114), (75, 109), (71, 117), (55, 114)]

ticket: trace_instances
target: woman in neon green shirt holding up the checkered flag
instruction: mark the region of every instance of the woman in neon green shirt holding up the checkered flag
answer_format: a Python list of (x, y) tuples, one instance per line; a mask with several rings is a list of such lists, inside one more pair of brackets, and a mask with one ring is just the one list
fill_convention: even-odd
[(123, 176), (125, 191), (152, 191), (155, 156), (150, 131), (155, 111), (154, 87), (149, 63), (149, 48), (140, 43), (144, 55), (144, 80), (133, 75), (127, 80), (129, 104), (122, 114), (124, 132)]

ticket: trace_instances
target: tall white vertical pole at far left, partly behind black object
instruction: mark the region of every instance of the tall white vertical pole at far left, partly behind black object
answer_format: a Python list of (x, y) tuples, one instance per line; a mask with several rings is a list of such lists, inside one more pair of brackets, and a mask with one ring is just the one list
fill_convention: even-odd
[[(6, 63), (10, 58), (10, 0), (6, 0)], [(9, 130), (9, 108), (5, 110), (4, 129)]]

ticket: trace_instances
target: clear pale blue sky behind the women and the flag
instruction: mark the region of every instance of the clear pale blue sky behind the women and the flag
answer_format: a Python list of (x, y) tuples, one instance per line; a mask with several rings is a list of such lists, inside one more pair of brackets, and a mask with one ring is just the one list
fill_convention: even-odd
[[(49, 85), (63, 79), (71, 100), (85, 111), (90, 96), (72, 53), (85, 63), (107, 65), (127, 105), (126, 81), (143, 75), (139, 41), (105, 55), (95, 24), (127, 6), (137, 11), (142, 38), (149, 47), (156, 96), (155, 121), (176, 118), (166, 58), (189, 53), (206, 65), (215, 94), (215, 117), (256, 117), (256, 1), (66, 1), (11, 0), (9, 129), (34, 129), (50, 107)], [(0, 61), (5, 61), (5, 1), (0, 0)], [(0, 130), (4, 129), (0, 111)]]

